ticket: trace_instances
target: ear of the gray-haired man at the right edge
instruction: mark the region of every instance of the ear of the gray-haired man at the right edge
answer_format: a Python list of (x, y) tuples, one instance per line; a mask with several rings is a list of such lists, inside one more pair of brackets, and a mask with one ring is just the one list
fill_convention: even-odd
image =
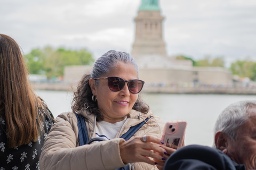
[(217, 132), (214, 137), (215, 146), (217, 149), (225, 152), (225, 149), (228, 148), (228, 135), (224, 132)]

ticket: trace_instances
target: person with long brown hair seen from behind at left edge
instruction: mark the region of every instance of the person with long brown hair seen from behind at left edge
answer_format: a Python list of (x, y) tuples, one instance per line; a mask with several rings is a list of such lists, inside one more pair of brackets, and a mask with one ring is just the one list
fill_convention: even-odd
[(18, 44), (0, 34), (0, 169), (39, 169), (54, 119), (28, 82)]

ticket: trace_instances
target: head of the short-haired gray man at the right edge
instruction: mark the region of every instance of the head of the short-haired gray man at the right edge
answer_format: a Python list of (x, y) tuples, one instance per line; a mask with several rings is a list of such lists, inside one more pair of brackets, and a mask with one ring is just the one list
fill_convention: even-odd
[(229, 105), (215, 124), (215, 146), (234, 162), (256, 169), (256, 100)]

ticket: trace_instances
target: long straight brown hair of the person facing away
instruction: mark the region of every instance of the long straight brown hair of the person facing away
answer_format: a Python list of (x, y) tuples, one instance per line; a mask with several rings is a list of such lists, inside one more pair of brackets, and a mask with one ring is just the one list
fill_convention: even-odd
[[(45, 107), (28, 82), (28, 70), (19, 45), (0, 34), (0, 117), (6, 121), (10, 148), (35, 142), (40, 135)], [(45, 112), (47, 113), (47, 112)]]

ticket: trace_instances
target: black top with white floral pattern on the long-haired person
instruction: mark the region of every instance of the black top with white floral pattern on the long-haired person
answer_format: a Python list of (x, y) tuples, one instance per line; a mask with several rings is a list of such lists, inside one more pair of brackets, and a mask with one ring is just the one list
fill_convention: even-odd
[[(47, 108), (49, 115), (52, 115)], [(42, 114), (39, 111), (39, 114)], [(45, 133), (38, 137), (36, 142), (21, 145), (16, 148), (8, 148), (7, 135), (5, 133), (6, 121), (0, 117), (0, 170), (36, 170), (39, 169), (39, 157), (43, 148), (44, 140), (52, 128), (51, 117), (44, 113), (43, 128)], [(43, 130), (41, 129), (41, 131)]]

